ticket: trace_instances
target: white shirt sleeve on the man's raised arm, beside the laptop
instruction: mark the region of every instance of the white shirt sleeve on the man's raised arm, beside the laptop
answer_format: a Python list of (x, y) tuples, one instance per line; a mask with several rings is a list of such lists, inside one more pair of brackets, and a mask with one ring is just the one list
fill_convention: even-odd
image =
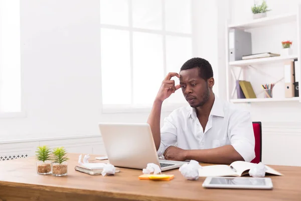
[(157, 151), (158, 157), (161, 157), (169, 146), (175, 146), (177, 143), (177, 127), (174, 118), (174, 112), (164, 119), (164, 125), (161, 128), (161, 143)]

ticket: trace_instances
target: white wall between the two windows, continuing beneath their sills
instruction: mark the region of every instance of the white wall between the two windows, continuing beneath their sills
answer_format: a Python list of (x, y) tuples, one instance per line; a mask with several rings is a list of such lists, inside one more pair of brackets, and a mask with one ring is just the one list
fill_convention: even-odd
[(148, 112), (102, 114), (99, 0), (20, 4), (27, 116), (0, 119), (0, 141), (99, 135), (98, 122), (146, 122)]

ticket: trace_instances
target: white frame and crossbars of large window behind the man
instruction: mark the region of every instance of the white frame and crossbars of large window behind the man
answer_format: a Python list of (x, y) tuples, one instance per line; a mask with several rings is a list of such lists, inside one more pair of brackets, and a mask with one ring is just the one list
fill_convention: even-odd
[[(103, 95), (102, 95), (102, 91), (100, 91), (101, 93), (101, 108), (102, 108), (102, 113), (103, 114), (110, 114), (110, 113), (145, 113), (145, 112), (150, 112), (150, 110), (152, 109), (153, 104), (151, 105), (145, 105), (145, 106), (137, 106), (133, 104), (133, 32), (141, 32), (141, 33), (149, 33), (149, 34), (159, 34), (161, 36), (163, 36), (163, 72), (164, 75), (163, 77), (165, 77), (167, 75), (167, 55), (166, 55), (166, 44), (167, 44), (167, 40), (166, 37), (167, 36), (177, 36), (177, 37), (186, 37), (186, 38), (190, 38), (192, 40), (192, 56), (195, 55), (196, 53), (196, 35), (194, 34), (194, 23), (193, 23), (193, 4), (194, 1), (192, 0), (186, 0), (186, 1), (190, 1), (190, 11), (191, 11), (191, 15), (190, 15), (190, 19), (191, 19), (191, 33), (187, 34), (187, 33), (178, 33), (178, 32), (171, 32), (171, 31), (166, 31), (166, 22), (165, 22), (165, 0), (161, 0), (161, 4), (162, 4), (162, 29), (161, 30), (152, 30), (152, 29), (145, 29), (145, 28), (136, 28), (133, 27), (133, 19), (132, 19), (132, 0), (127, 0), (128, 1), (128, 26), (119, 26), (119, 25), (108, 25), (108, 24), (102, 24), (100, 23), (100, 35), (101, 35), (101, 29), (112, 29), (112, 30), (122, 30), (122, 31), (128, 31), (129, 32), (129, 46), (130, 46), (130, 75), (131, 75), (131, 104), (130, 105), (107, 105), (107, 104), (103, 104)], [(101, 3), (100, 3), (101, 6)], [(100, 9), (99, 9), (100, 10)], [(100, 17), (100, 16), (99, 16)], [(101, 43), (101, 42), (100, 42)], [(100, 44), (101, 45), (101, 44)], [(100, 52), (101, 55), (101, 52)], [(101, 72), (101, 62), (100, 62), (100, 72)], [(102, 78), (102, 75), (101, 75)], [(101, 86), (102, 88), (102, 86)], [(159, 90), (159, 88), (158, 88)], [(179, 89), (180, 90), (180, 89)], [(155, 98), (155, 97), (154, 97)], [(187, 102), (183, 102), (183, 103), (169, 103), (168, 102), (168, 98), (165, 100), (163, 106), (162, 106), (162, 112), (172, 112), (173, 110), (180, 108), (180, 107), (184, 107), (187, 106)]]

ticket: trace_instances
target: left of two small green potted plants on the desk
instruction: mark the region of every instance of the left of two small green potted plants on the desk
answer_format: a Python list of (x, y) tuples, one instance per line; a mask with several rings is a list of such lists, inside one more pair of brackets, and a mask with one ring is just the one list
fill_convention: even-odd
[(39, 146), (36, 151), (37, 173), (51, 174), (51, 151), (47, 146)]

